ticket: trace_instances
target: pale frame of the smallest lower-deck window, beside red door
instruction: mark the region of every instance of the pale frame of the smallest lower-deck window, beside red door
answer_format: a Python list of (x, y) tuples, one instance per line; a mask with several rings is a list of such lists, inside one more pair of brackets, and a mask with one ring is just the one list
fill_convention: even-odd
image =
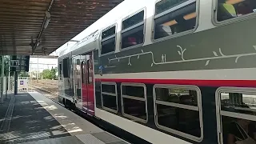
[[(108, 92), (103, 92), (103, 94), (106, 94), (106, 95), (108, 95), (110, 97), (116, 97), (117, 110), (110, 109), (110, 108), (108, 108), (108, 107), (103, 105), (102, 84), (103, 85), (110, 85), (110, 86), (114, 85), (114, 87), (115, 87), (115, 94), (108, 93)], [(118, 113), (118, 88), (117, 88), (117, 83), (116, 82), (101, 82), (101, 98), (102, 98), (102, 108), (104, 110), (108, 110), (108, 111), (116, 113), (116, 114)]]

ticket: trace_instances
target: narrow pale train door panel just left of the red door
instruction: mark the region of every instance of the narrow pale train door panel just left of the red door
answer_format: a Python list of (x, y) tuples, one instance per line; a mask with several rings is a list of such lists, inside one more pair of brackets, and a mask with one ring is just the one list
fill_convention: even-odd
[(80, 66), (80, 55), (72, 58), (73, 64), (73, 93), (74, 102), (79, 109), (82, 109), (82, 98), (81, 98), (81, 66)]

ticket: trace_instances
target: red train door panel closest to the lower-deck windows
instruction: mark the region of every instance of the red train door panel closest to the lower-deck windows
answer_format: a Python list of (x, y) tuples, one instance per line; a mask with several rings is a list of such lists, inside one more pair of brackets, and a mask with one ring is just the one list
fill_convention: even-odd
[(82, 56), (82, 107), (94, 115), (94, 71), (92, 52)]

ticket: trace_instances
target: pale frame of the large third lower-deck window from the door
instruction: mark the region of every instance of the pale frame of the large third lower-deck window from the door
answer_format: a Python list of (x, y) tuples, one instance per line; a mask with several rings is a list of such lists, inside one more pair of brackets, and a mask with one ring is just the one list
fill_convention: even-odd
[[(198, 106), (190, 106), (190, 105), (185, 105), (185, 104), (179, 104), (179, 103), (174, 103), (174, 102), (158, 102), (159, 100), (157, 100), (156, 98), (156, 88), (167, 88), (167, 89), (189, 89), (189, 90), (195, 90), (197, 92), (197, 96), (198, 96)], [(190, 140), (193, 140), (195, 142), (202, 142), (203, 140), (203, 122), (202, 122), (202, 94), (201, 94), (201, 90), (199, 89), (198, 86), (193, 86), (193, 85), (170, 85), (170, 84), (155, 84), (153, 86), (153, 99), (154, 99), (154, 124), (155, 126), (158, 127), (158, 129), (161, 130), (165, 130), (167, 132), (170, 132), (172, 134), (177, 134), (183, 138), (188, 138)], [(194, 111), (198, 111), (198, 115), (199, 115), (199, 124), (200, 124), (200, 131), (201, 131), (201, 136), (198, 138), (194, 135), (191, 134), (186, 134), (185, 132), (182, 131), (178, 131), (178, 130), (174, 130), (171, 129), (169, 127), (166, 126), (162, 126), (158, 124), (158, 112), (157, 112), (157, 104), (161, 104), (164, 106), (172, 106), (172, 107), (177, 107), (177, 108), (182, 108), (182, 109), (186, 109), (186, 110), (194, 110), (193, 107), (198, 107), (198, 110), (194, 110)]]

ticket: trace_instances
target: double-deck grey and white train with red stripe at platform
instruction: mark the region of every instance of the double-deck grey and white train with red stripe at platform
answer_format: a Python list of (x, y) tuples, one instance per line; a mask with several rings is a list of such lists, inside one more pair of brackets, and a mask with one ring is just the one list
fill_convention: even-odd
[(138, 143), (256, 143), (256, 1), (120, 10), (59, 56), (60, 102)]

